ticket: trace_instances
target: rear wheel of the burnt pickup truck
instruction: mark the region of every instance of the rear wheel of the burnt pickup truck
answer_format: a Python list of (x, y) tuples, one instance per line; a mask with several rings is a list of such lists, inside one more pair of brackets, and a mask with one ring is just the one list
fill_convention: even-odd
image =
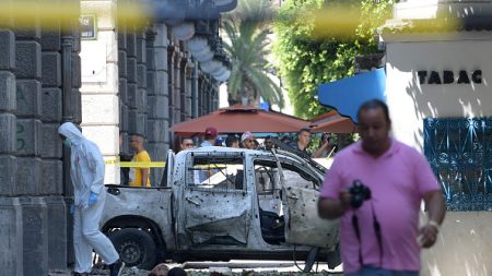
[(150, 271), (157, 262), (157, 250), (152, 236), (143, 230), (125, 228), (109, 232), (109, 239), (115, 244), (125, 266), (137, 266)]

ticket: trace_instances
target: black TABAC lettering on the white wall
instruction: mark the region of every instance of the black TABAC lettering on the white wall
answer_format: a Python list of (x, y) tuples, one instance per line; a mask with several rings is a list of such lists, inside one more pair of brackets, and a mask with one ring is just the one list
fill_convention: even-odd
[(417, 71), (420, 84), (470, 84), (482, 83), (482, 70), (458, 72), (444, 71)]

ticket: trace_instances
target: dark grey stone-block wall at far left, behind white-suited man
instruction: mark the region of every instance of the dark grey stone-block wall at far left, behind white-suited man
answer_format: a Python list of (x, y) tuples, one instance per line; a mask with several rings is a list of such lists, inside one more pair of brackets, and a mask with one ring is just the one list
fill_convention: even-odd
[(0, 274), (47, 275), (68, 261), (71, 190), (57, 129), (81, 118), (78, 20), (15, 16), (0, 31)]

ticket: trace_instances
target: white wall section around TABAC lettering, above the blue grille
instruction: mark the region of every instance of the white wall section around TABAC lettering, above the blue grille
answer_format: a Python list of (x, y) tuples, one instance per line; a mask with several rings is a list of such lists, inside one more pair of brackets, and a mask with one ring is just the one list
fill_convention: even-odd
[[(423, 119), (492, 115), (492, 39), (483, 34), (441, 37), (442, 40), (395, 41), (386, 37), (386, 94), (396, 137), (421, 149)], [(395, 38), (395, 37), (394, 37)], [(422, 36), (420, 36), (422, 38)], [(455, 39), (453, 39), (455, 38)], [(462, 38), (462, 37), (461, 37)], [(482, 71), (481, 84), (420, 84), (417, 72)]]

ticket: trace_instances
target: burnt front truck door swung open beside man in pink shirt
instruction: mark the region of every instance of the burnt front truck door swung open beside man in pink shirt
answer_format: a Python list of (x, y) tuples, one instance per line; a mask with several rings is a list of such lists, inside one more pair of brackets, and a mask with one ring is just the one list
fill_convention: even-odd
[(333, 249), (338, 241), (338, 220), (318, 216), (319, 177), (301, 163), (281, 159), (280, 164), (285, 242)]

